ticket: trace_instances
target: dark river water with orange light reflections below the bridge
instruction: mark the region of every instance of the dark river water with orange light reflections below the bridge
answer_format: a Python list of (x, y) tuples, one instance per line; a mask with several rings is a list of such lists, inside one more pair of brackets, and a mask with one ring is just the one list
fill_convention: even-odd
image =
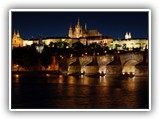
[(12, 109), (147, 109), (147, 77), (12, 77)]

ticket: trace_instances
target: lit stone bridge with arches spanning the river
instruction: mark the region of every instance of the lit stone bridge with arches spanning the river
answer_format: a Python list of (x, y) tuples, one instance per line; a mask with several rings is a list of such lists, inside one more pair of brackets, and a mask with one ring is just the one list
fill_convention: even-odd
[[(141, 73), (142, 75), (148, 75), (148, 56), (144, 53), (126, 53), (126, 54), (118, 54), (118, 58), (116, 58), (115, 54), (106, 54), (103, 56), (83, 56), (79, 57), (80, 62), (80, 72), (81, 73), (100, 73), (106, 75), (122, 75), (124, 73), (133, 73), (138, 75)], [(90, 63), (93, 59), (96, 58), (97, 66), (91, 65)], [(76, 58), (70, 58), (69, 65), (74, 63)], [(142, 64), (141, 63), (146, 63)], [(140, 70), (140, 66), (136, 67), (136, 65), (143, 66), (145, 70), (143, 73)], [(74, 69), (74, 68), (73, 68)], [(74, 71), (74, 70), (72, 70)], [(77, 71), (77, 70), (76, 70)]]

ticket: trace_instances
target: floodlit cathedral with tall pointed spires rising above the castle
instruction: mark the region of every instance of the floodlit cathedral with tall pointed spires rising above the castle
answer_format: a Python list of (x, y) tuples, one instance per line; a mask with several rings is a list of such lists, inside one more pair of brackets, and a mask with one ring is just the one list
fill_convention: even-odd
[(70, 38), (80, 38), (80, 37), (102, 36), (102, 34), (99, 33), (97, 30), (87, 30), (87, 24), (85, 24), (85, 27), (83, 30), (82, 25), (80, 24), (80, 20), (78, 18), (77, 25), (75, 25), (74, 30), (70, 25), (68, 36)]

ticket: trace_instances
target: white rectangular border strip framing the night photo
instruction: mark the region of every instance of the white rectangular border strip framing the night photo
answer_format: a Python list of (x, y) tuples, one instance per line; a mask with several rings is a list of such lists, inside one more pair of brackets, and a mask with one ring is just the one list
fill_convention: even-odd
[[(12, 109), (11, 108), (11, 22), (12, 12), (148, 12), (149, 20), (149, 109)], [(150, 111), (151, 110), (151, 10), (150, 9), (10, 9), (9, 10), (9, 110), (10, 111)]]

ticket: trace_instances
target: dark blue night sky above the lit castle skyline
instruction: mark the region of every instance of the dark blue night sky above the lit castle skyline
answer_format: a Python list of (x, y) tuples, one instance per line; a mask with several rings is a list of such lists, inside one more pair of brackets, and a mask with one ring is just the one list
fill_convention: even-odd
[(104, 36), (124, 38), (131, 32), (132, 38), (148, 38), (148, 12), (12, 12), (12, 33), (19, 30), (23, 39), (43, 37), (67, 37), (70, 24), (77, 19), (84, 28), (97, 29)]

